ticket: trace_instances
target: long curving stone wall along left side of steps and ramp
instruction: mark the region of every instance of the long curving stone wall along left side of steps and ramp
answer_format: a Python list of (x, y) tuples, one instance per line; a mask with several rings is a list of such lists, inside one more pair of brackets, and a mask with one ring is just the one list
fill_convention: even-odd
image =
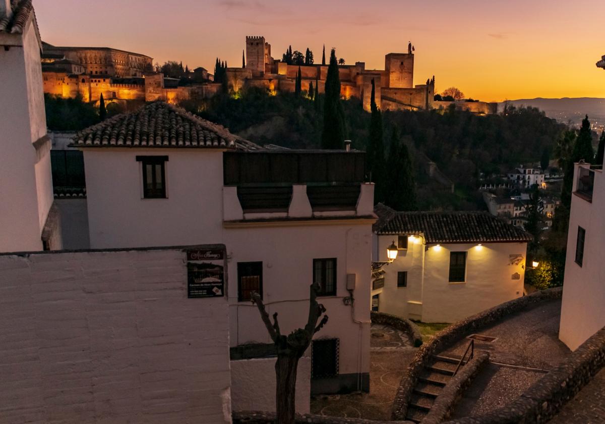
[(509, 300), (509, 302), (502, 303), (502, 305), (494, 306), (479, 314), (460, 320), (437, 333), (430, 342), (420, 346), (416, 352), (416, 356), (410, 365), (408, 365), (407, 375), (402, 378), (393, 400), (391, 419), (405, 419), (412, 390), (416, 386), (418, 376), (431, 359), (431, 356), (443, 351), (463, 337), (477, 333), (482, 328), (502, 320), (505, 316), (534, 306), (537, 303), (545, 302), (546, 300), (561, 299), (562, 294), (562, 287), (537, 291), (529, 296)]

